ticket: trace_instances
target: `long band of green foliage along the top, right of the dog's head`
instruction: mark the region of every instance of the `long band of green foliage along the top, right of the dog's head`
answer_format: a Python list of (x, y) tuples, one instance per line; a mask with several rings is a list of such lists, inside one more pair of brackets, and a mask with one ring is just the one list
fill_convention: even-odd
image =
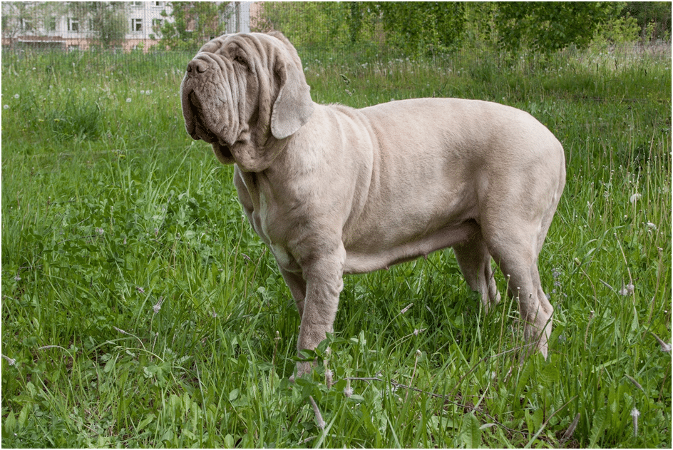
[(553, 53), (634, 41), (641, 29), (647, 39), (670, 39), (662, 31), (669, 16), (669, 3), (651, 2), (271, 2), (257, 29), (282, 31), (310, 51), (367, 57), (440, 55), (458, 44)]

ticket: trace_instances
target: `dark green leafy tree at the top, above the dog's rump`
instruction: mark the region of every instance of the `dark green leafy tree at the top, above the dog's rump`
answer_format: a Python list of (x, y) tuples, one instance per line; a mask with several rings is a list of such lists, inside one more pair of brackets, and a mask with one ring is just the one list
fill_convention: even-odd
[(497, 5), (495, 27), (500, 46), (509, 51), (527, 46), (545, 53), (570, 44), (587, 47), (597, 26), (624, 7), (610, 1), (508, 1)]

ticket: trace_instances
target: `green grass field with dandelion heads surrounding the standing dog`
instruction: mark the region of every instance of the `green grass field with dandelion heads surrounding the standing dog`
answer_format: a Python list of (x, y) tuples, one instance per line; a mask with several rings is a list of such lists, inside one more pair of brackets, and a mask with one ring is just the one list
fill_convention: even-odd
[(289, 290), (232, 167), (185, 133), (189, 58), (2, 55), (4, 448), (671, 445), (670, 57), (304, 57), (321, 103), (529, 111), (567, 185), (539, 262), (547, 361), (518, 364), (515, 300), (484, 315), (446, 250), (347, 276), (294, 385)]

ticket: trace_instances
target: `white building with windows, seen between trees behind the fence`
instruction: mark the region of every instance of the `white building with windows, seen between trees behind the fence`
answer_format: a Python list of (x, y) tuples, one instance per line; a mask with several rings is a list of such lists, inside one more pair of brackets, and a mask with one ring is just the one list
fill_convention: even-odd
[[(222, 32), (250, 31), (252, 2), (233, 1), (227, 6), (229, 17)], [(127, 32), (120, 47), (123, 51), (148, 51), (159, 43), (158, 29), (163, 21), (172, 21), (168, 1), (125, 1), (121, 11)], [(163, 14), (162, 14), (163, 13)], [(62, 48), (88, 50), (96, 41), (91, 19), (78, 17), (63, 2), (3, 1), (2, 45), (8, 47)]]

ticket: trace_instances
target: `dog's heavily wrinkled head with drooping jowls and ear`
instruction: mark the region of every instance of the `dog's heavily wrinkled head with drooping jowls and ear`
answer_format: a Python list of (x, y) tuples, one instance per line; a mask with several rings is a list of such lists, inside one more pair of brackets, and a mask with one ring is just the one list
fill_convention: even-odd
[(185, 127), (211, 143), (222, 163), (259, 172), (309, 120), (309, 89), (297, 50), (282, 34), (225, 34), (187, 65)]

